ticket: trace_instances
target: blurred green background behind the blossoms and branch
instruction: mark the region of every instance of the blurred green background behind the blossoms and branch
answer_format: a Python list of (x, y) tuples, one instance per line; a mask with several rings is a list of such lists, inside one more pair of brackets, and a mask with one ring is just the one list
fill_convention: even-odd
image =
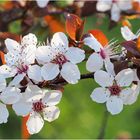
[[(109, 30), (108, 17), (103, 18), (103, 23), (98, 27), (96, 22), (96, 16), (87, 17), (85, 32), (98, 28), (105, 33), (108, 39), (123, 40), (120, 33), (121, 24)], [(130, 22), (133, 31), (136, 32), (140, 27), (140, 20), (134, 19)], [(18, 33), (20, 21), (14, 22), (9, 30)], [(37, 29), (33, 30), (33, 33), (40, 40), (43, 40), (42, 36), (46, 37), (47, 30), (44, 32), (42, 33)], [(43, 35), (40, 36), (41, 33)], [(79, 67), (82, 74), (88, 73), (85, 69), (85, 62), (80, 64)], [(65, 86), (63, 98), (58, 105), (61, 110), (59, 118), (51, 123), (45, 122), (41, 132), (32, 135), (30, 138), (97, 138), (106, 109), (104, 104), (97, 104), (90, 98), (91, 92), (97, 86), (93, 79), (81, 80), (76, 85)], [(10, 107), (9, 111), (8, 123), (0, 125), (0, 138), (21, 138), (21, 117), (16, 116)], [(120, 114), (109, 115), (105, 138), (117, 138), (119, 136), (140, 138), (140, 99), (131, 106), (125, 106)]]

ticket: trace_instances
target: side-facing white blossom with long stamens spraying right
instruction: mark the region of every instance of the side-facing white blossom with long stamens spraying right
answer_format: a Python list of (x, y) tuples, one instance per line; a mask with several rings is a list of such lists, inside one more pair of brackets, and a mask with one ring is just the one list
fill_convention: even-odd
[(106, 70), (114, 75), (114, 65), (110, 61), (110, 58), (116, 57), (116, 52), (113, 50), (114, 48), (111, 47), (115, 44), (115, 42), (107, 44), (103, 47), (100, 42), (92, 34), (90, 34), (90, 36), (84, 39), (84, 44), (88, 45), (95, 51), (87, 60), (87, 70), (95, 72), (103, 68), (105, 65)]

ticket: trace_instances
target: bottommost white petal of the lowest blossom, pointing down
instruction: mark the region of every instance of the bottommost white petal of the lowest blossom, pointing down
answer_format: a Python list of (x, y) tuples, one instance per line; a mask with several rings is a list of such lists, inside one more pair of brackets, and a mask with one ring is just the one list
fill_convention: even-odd
[(38, 133), (42, 129), (43, 125), (44, 125), (44, 121), (41, 115), (37, 113), (30, 115), (26, 123), (27, 130), (30, 134)]

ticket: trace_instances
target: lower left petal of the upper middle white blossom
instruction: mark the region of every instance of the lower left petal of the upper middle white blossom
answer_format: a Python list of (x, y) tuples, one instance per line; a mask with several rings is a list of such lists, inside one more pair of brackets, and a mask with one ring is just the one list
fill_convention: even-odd
[(59, 65), (48, 63), (41, 68), (41, 75), (44, 80), (52, 80), (59, 74)]

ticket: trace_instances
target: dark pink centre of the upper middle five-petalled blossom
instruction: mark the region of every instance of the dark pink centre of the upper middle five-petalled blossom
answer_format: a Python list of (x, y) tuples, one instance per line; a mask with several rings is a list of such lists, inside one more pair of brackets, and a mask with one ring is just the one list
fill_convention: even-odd
[(52, 63), (62, 66), (64, 63), (68, 62), (67, 58), (63, 54), (59, 54), (52, 60)]

